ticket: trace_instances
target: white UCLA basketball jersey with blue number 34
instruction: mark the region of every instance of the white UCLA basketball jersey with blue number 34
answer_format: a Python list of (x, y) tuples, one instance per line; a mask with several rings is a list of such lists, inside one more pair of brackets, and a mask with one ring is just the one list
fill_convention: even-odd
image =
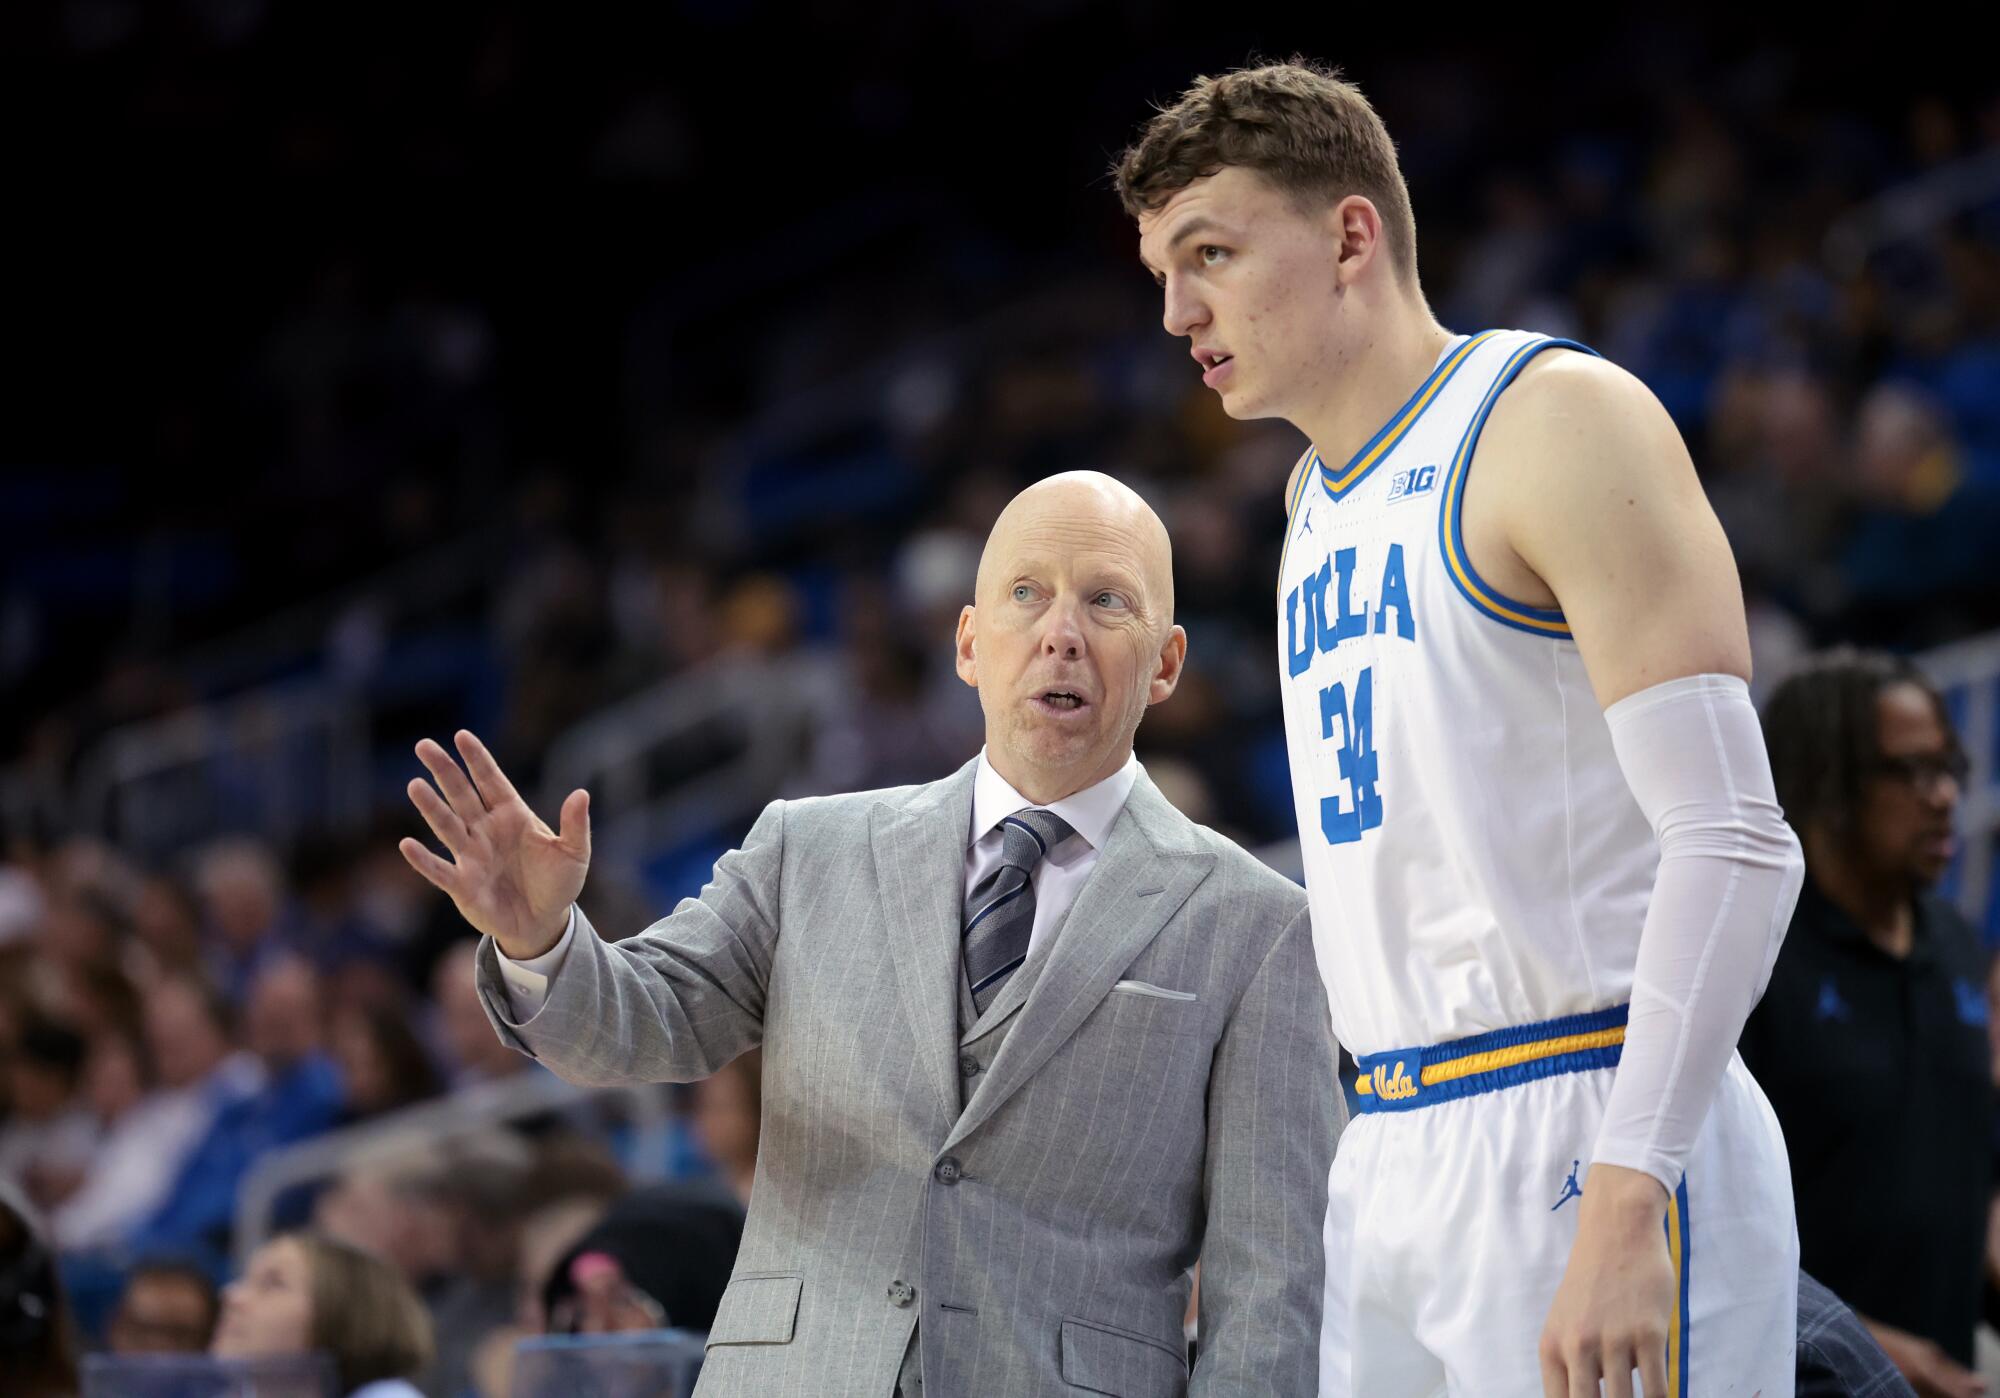
[(1560, 612), (1474, 572), (1480, 426), (1536, 352), (1452, 340), (1352, 462), (1288, 504), (1278, 674), (1306, 892), (1352, 1054), (1626, 1002), (1658, 846)]

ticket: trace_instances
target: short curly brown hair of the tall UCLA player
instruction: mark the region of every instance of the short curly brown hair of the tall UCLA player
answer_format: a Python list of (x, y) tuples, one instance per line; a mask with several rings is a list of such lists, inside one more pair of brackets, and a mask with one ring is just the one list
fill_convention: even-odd
[(1396, 142), (1338, 68), (1290, 58), (1196, 78), (1112, 166), (1132, 218), (1224, 166), (1256, 170), (1302, 206), (1366, 196), (1382, 214), (1396, 276), (1416, 284), (1416, 216)]

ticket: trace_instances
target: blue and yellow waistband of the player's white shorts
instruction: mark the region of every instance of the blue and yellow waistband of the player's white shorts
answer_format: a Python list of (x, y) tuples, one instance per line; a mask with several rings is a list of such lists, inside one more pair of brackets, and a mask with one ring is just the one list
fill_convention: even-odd
[(1456, 1038), (1430, 1048), (1398, 1048), (1354, 1060), (1362, 1112), (1412, 1112), (1452, 1098), (1498, 1092), (1564, 1072), (1614, 1068), (1624, 1052), (1630, 1006)]

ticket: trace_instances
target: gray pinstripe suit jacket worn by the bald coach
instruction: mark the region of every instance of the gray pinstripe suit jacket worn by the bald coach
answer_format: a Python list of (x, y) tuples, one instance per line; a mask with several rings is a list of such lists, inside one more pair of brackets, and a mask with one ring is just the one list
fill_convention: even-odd
[(702, 1398), (888, 1398), (918, 1322), (924, 1398), (1314, 1394), (1342, 1104), (1304, 892), (1142, 774), (1064, 924), (962, 1034), (972, 776), (774, 802), (672, 916), (616, 944), (580, 920), (524, 1024), (488, 940), (486, 1010), (584, 1084), (764, 1044)]

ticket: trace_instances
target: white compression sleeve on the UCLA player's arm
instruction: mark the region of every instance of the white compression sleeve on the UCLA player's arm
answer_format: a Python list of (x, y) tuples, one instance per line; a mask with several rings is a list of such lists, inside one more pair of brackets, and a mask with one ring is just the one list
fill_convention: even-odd
[(1660, 840), (1660, 874), (1592, 1160), (1644, 1170), (1672, 1192), (1770, 980), (1806, 860), (1778, 810), (1742, 680), (1668, 680), (1618, 700), (1604, 718)]

